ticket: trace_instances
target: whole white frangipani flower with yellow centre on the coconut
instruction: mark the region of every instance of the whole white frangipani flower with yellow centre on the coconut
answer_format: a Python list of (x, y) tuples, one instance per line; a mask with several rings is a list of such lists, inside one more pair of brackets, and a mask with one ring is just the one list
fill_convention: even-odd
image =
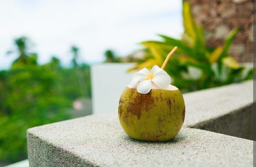
[(170, 76), (160, 67), (158, 67), (158, 65), (154, 65), (151, 73), (146, 68), (143, 68), (138, 73), (135, 73), (129, 86), (132, 88), (137, 86), (137, 91), (139, 93), (146, 94), (151, 90), (152, 84), (164, 89), (167, 88), (170, 83)]

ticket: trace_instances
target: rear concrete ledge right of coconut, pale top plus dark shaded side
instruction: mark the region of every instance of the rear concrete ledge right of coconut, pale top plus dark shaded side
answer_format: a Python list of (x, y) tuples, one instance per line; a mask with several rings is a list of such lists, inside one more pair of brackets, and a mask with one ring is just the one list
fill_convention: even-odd
[(253, 81), (184, 95), (184, 126), (252, 140)]

